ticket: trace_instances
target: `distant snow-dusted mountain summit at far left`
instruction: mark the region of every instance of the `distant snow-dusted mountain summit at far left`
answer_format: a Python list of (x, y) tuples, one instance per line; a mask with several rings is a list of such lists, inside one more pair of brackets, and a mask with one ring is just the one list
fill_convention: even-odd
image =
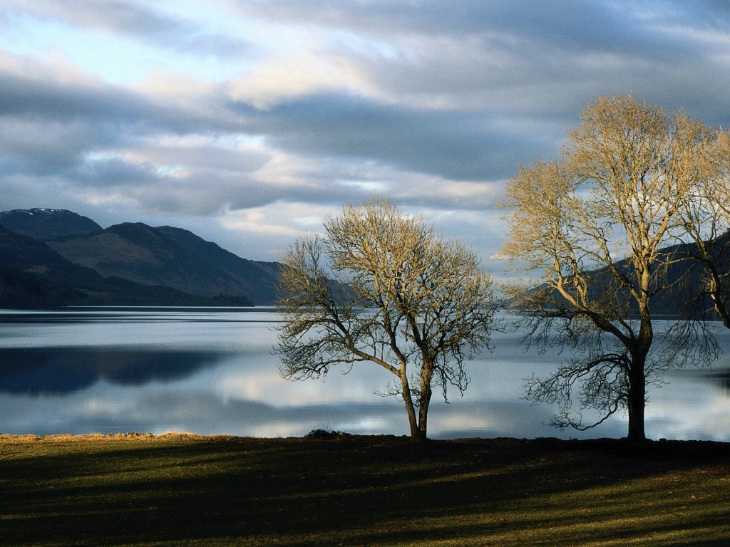
[(0, 212), (0, 225), (38, 241), (80, 236), (102, 230), (88, 217), (66, 209), (13, 209)]

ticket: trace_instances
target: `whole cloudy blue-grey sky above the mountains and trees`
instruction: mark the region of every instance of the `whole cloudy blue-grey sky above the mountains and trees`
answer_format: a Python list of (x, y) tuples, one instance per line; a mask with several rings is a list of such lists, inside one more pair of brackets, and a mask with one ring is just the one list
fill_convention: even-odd
[(371, 193), (475, 247), (596, 96), (730, 126), (723, 1), (0, 0), (0, 211), (276, 260)]

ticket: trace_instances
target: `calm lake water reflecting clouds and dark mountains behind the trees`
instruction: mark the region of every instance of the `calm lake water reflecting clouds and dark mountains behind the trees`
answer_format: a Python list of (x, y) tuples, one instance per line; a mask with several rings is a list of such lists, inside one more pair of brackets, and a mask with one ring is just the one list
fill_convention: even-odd
[[(405, 435), (402, 403), (378, 397), (391, 375), (364, 364), (325, 381), (286, 381), (267, 309), (0, 311), (0, 432), (196, 432), (276, 437), (324, 428)], [(588, 432), (545, 426), (553, 408), (520, 399), (522, 379), (560, 357), (526, 353), (515, 334), (468, 363), (450, 404), (434, 394), (432, 438), (622, 437), (623, 416)], [(650, 391), (650, 438), (730, 441), (730, 333), (712, 369), (672, 371)]]

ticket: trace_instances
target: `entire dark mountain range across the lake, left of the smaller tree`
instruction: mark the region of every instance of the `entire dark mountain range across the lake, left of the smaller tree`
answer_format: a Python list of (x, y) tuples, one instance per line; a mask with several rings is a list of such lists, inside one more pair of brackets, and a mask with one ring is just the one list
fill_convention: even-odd
[(0, 307), (269, 306), (278, 263), (196, 234), (65, 209), (0, 212)]

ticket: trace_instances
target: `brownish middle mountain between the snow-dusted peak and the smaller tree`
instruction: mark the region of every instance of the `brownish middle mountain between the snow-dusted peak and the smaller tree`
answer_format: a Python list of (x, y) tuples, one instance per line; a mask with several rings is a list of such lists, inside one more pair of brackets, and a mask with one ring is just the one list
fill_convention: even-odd
[(125, 222), (48, 245), (104, 277), (208, 298), (245, 296), (257, 305), (270, 305), (274, 299), (276, 263), (246, 260), (182, 228)]

